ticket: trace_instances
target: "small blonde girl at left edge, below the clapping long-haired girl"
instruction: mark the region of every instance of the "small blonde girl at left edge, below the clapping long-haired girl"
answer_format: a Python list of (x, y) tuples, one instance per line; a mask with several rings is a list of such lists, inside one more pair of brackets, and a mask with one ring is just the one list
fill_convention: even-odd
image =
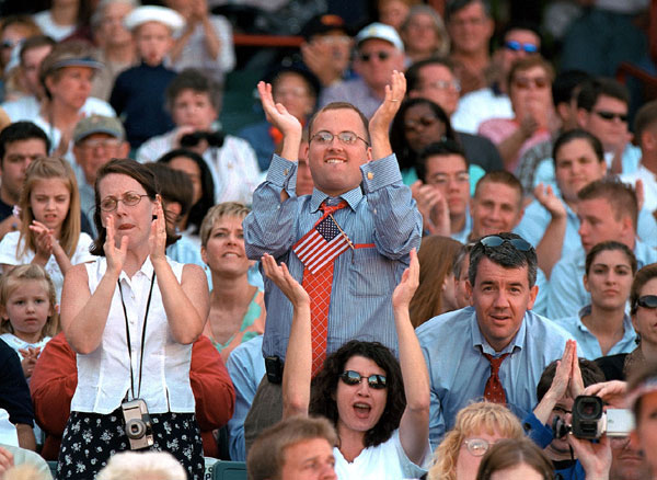
[(0, 339), (16, 351), (25, 378), (59, 330), (55, 286), (35, 264), (19, 265), (0, 281)]

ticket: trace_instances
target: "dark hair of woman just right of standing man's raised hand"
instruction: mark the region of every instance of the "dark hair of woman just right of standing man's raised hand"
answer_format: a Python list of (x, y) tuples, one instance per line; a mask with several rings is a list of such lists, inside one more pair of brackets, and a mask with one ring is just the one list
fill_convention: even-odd
[[(431, 108), (436, 118), (445, 125), (445, 139), (454, 140), (456, 142), (459, 141), (454, 135), (447, 113), (445, 113), (440, 105), (430, 100), (420, 98), (404, 100), (390, 126), (390, 145), (392, 146), (392, 151), (396, 155), (400, 170), (415, 168), (419, 156), (419, 151), (415, 150), (416, 147), (414, 148), (406, 139), (406, 128), (404, 126), (406, 112), (415, 105), (429, 105), (429, 108)], [(436, 141), (440, 140), (441, 138), (436, 138)]]

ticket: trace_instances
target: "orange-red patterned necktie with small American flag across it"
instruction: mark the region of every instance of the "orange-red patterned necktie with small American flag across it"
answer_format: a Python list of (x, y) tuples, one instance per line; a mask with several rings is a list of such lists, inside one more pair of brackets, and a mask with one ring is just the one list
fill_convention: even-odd
[(349, 248), (345, 233), (335, 224), (332, 214), (347, 206), (345, 201), (337, 205), (320, 206), (323, 215), (313, 228), (292, 247), (303, 262), (301, 285), (310, 296), (312, 376), (314, 377), (326, 357), (326, 335), (328, 333), (328, 307), (333, 285), (335, 259)]

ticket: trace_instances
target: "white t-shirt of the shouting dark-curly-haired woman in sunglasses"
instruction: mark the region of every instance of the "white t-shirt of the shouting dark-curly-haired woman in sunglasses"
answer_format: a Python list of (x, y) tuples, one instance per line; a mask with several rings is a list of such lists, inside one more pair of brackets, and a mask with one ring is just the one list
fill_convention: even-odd
[(333, 454), (335, 455), (335, 472), (339, 480), (420, 478), (427, 472), (431, 461), (431, 447), (427, 438), (422, 465), (412, 462), (402, 447), (399, 430), (395, 430), (387, 442), (362, 450), (353, 462), (345, 460), (337, 447), (333, 448)]

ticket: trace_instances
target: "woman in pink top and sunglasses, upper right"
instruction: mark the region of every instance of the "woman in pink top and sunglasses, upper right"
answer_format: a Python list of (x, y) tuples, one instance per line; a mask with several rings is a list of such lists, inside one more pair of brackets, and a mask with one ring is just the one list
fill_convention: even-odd
[(551, 130), (556, 127), (553, 79), (552, 67), (540, 56), (516, 61), (507, 80), (514, 118), (491, 118), (480, 125), (479, 134), (497, 146), (509, 172), (518, 170), (518, 161), (527, 150), (550, 140)]

